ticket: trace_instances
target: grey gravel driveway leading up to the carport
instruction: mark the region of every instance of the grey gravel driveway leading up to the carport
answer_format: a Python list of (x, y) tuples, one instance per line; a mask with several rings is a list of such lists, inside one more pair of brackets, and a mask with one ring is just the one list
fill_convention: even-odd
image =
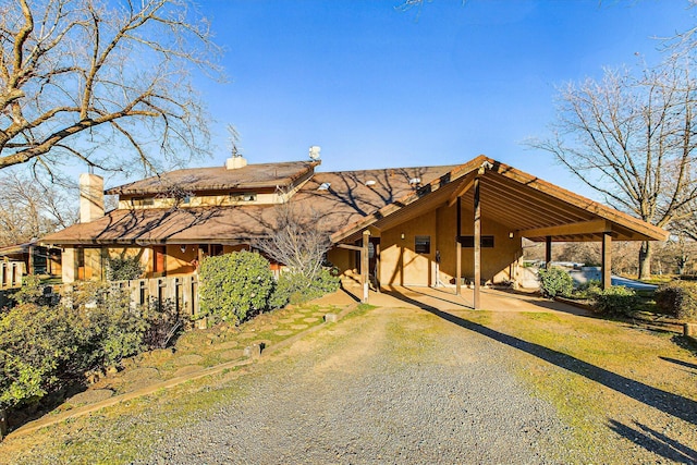
[(378, 308), (237, 379), (240, 395), (143, 463), (557, 463), (567, 429), (502, 344), (421, 310)]

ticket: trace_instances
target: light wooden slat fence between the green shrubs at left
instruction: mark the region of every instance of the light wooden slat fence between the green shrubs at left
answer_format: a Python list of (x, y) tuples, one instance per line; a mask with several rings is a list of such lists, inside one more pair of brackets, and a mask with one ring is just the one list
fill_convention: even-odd
[(133, 306), (152, 302), (174, 305), (179, 315), (198, 314), (197, 276), (114, 281), (111, 285), (127, 290)]

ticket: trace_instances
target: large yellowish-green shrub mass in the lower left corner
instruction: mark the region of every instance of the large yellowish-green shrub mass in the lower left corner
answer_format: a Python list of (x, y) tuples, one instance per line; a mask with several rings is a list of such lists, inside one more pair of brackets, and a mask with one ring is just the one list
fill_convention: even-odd
[(39, 301), (28, 289), (0, 315), (0, 408), (35, 403), (145, 348), (150, 323), (131, 311), (124, 291), (82, 283), (61, 303)]

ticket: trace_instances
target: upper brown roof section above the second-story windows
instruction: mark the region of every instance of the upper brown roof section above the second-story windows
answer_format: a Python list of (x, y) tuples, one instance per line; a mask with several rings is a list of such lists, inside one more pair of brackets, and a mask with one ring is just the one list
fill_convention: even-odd
[(191, 192), (288, 187), (309, 174), (318, 164), (319, 161), (289, 161), (247, 164), (234, 170), (224, 167), (192, 168), (113, 187), (106, 193), (149, 195), (162, 193), (172, 186)]

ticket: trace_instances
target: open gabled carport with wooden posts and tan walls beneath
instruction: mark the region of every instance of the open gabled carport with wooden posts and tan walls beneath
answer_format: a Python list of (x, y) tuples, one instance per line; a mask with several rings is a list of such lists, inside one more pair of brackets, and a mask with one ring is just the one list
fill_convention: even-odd
[[(522, 238), (602, 244), (610, 285), (612, 241), (662, 241), (668, 233), (504, 163), (480, 156), (332, 234), (337, 245), (380, 237), (381, 285), (451, 284), (463, 292), (485, 282), (515, 285)], [(368, 270), (368, 267), (365, 267)], [(368, 274), (365, 273), (364, 286)], [(365, 293), (367, 296), (367, 292)]]

